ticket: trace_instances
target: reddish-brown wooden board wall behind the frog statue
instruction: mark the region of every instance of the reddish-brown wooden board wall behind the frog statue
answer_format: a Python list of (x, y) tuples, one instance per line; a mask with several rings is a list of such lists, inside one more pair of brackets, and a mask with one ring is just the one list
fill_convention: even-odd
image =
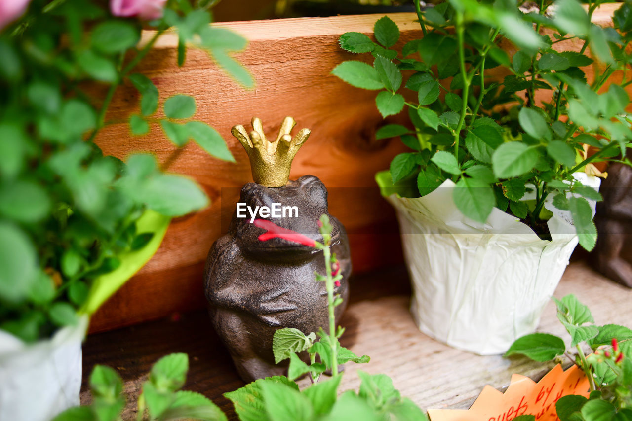
[[(612, 10), (602, 9), (595, 18), (607, 23)], [(248, 48), (237, 58), (257, 81), (250, 91), (234, 83), (201, 50), (189, 49), (185, 65), (178, 68), (176, 35), (166, 34), (158, 40), (138, 70), (158, 86), (161, 104), (176, 93), (193, 95), (198, 105), (195, 119), (208, 122), (224, 136), (236, 163), (216, 160), (193, 142), (178, 150), (158, 124), (152, 124), (145, 136), (132, 136), (126, 117), (138, 112), (138, 94), (131, 85), (119, 88), (107, 115), (113, 124), (97, 139), (104, 153), (119, 158), (133, 151), (155, 153), (164, 169), (189, 175), (203, 186), (212, 205), (173, 220), (154, 258), (95, 314), (90, 331), (205, 305), (202, 271), (206, 254), (228, 229), (240, 187), (252, 181), (246, 153), (230, 128), (250, 124), (253, 116), (262, 119), (266, 133), (276, 133), (285, 116), (295, 117), (295, 130), (312, 129), (312, 136), (296, 155), (291, 178), (316, 175), (329, 188), (329, 209), (349, 233), (354, 271), (401, 262), (394, 212), (380, 197), (374, 174), (387, 169), (404, 146), (399, 139), (375, 139), (375, 131), (384, 124), (375, 108), (377, 92), (353, 88), (330, 74), (339, 62), (369, 58), (344, 52), (337, 39), (348, 31), (371, 35), (380, 17), (218, 23), (249, 40)], [(421, 36), (415, 14), (390, 17), (401, 30), (399, 47)], [(389, 122), (406, 121), (404, 114)]]

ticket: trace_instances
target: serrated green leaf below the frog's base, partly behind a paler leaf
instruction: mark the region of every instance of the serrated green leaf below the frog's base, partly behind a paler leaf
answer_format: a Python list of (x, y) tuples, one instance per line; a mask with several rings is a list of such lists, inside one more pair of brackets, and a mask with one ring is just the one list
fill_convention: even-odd
[(235, 412), (241, 421), (265, 421), (269, 420), (266, 413), (266, 405), (262, 398), (262, 384), (281, 383), (298, 391), (298, 385), (284, 376), (265, 377), (246, 384), (236, 391), (224, 393), (224, 397), (231, 400)]

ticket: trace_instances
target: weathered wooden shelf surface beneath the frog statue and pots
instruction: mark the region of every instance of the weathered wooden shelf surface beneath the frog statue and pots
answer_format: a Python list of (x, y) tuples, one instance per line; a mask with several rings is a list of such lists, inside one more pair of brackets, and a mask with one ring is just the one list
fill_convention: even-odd
[[(422, 408), (468, 408), (483, 389), (503, 389), (511, 374), (540, 379), (553, 364), (524, 357), (480, 357), (447, 347), (424, 335), (408, 312), (410, 287), (403, 266), (375, 271), (351, 280), (351, 300), (341, 324), (344, 346), (370, 355), (368, 364), (347, 364), (341, 391), (360, 385), (356, 370), (392, 377), (394, 385)], [(555, 296), (575, 294), (592, 309), (597, 324), (632, 326), (632, 290), (607, 280), (585, 263), (571, 263)], [(142, 305), (139, 303), (138, 305)], [(553, 302), (547, 305), (538, 331), (564, 337)], [(566, 336), (568, 343), (568, 336)], [(228, 352), (210, 326), (205, 311), (173, 314), (167, 319), (88, 336), (83, 347), (82, 402), (89, 397), (87, 379), (95, 364), (117, 369), (128, 392), (128, 413), (151, 365), (171, 352), (186, 352), (190, 371), (185, 389), (205, 394), (234, 418), (223, 393), (243, 386)]]

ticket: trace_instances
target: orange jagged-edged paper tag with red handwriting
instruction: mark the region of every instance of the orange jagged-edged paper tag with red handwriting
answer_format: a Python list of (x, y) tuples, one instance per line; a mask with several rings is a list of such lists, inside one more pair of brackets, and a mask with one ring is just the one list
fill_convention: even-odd
[(557, 364), (537, 383), (514, 374), (505, 393), (491, 386), (483, 391), (468, 410), (429, 409), (432, 421), (509, 421), (518, 415), (535, 415), (538, 421), (558, 420), (555, 403), (567, 394), (588, 397), (590, 385), (576, 365), (564, 371)]

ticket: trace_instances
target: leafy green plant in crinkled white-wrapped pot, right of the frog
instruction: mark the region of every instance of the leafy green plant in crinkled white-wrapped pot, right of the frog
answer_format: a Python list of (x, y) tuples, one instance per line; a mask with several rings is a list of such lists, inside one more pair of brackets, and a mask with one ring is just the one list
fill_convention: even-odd
[[(340, 37), (344, 50), (372, 54), (372, 64), (345, 61), (332, 73), (379, 90), (384, 117), (405, 107), (414, 127), (377, 131), (411, 151), (376, 179), (398, 212), (413, 317), (438, 340), (504, 352), (535, 329), (576, 244), (595, 244), (593, 163), (629, 163), (632, 138), (630, 81), (605, 90), (629, 67), (632, 6), (621, 4), (614, 27), (601, 28), (591, 23), (599, 5), (544, 1), (523, 11), (450, 0), (418, 13), (423, 37), (401, 50), (387, 17), (375, 23), (375, 42)], [(515, 47), (513, 56), (501, 45)]]

